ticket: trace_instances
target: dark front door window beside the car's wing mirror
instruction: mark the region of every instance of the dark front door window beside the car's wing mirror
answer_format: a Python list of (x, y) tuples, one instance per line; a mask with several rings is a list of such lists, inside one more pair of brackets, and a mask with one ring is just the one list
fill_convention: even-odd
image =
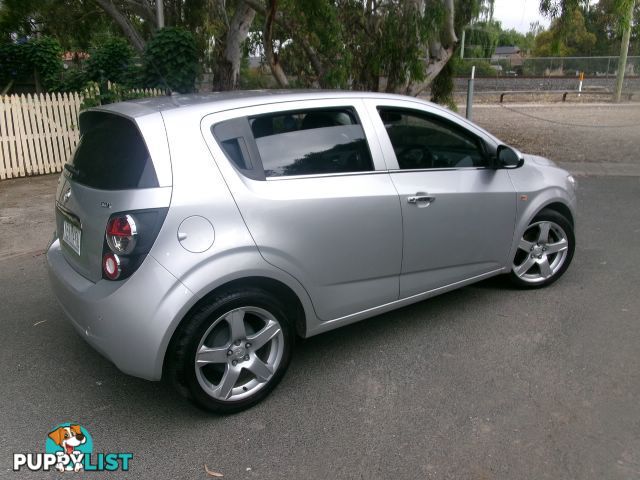
[(480, 140), (423, 112), (380, 108), (401, 169), (484, 167)]

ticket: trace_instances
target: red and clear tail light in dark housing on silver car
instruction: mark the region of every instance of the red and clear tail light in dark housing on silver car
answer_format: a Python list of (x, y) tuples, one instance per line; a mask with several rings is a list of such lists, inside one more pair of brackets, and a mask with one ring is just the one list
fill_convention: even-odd
[(102, 248), (102, 278), (123, 280), (138, 269), (158, 237), (167, 210), (135, 210), (109, 217)]

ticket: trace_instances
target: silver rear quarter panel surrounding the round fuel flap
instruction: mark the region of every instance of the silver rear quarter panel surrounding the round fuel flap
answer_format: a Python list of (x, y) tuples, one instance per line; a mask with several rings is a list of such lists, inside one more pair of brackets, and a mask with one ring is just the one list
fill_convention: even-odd
[[(315, 318), (304, 288), (290, 275), (260, 256), (200, 131), (201, 115), (174, 109), (163, 112), (173, 171), (171, 207), (151, 255), (202, 298), (212, 290), (247, 277), (266, 277), (289, 286), (305, 310)], [(212, 245), (194, 253), (178, 240), (181, 223), (200, 216), (213, 226)], [(181, 318), (167, 330), (170, 336)]]

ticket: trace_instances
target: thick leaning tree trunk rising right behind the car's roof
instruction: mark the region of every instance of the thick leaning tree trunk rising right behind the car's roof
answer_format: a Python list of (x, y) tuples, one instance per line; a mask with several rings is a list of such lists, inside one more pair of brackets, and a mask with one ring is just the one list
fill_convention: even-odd
[(224, 52), (217, 62), (213, 79), (214, 90), (236, 90), (238, 88), (242, 45), (247, 39), (255, 15), (256, 11), (253, 8), (244, 1), (240, 2), (229, 24)]

